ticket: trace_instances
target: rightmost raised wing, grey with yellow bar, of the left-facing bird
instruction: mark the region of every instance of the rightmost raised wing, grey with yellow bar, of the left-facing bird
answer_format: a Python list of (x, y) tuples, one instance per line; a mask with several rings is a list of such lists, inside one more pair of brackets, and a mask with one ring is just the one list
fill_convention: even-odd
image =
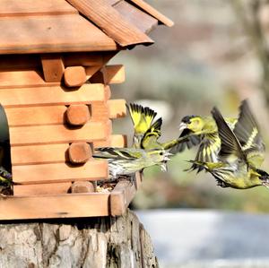
[(242, 101), (239, 111), (239, 119), (233, 132), (247, 154), (247, 161), (259, 168), (265, 160), (265, 143), (246, 99)]

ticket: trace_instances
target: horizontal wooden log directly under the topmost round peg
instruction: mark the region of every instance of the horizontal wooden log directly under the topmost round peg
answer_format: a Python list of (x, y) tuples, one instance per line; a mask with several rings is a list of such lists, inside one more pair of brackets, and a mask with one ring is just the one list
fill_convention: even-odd
[(102, 101), (107, 90), (102, 84), (84, 84), (79, 90), (63, 90), (59, 86), (6, 89), (0, 90), (1, 104), (4, 108), (90, 104), (92, 101)]

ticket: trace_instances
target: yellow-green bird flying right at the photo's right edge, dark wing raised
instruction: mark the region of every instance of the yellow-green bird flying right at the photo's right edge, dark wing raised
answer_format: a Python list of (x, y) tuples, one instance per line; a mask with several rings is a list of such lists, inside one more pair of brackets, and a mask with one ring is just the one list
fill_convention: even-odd
[[(254, 148), (260, 146), (259, 139), (252, 138), (252, 146), (246, 143), (246, 149), (244, 150), (244, 145), (242, 146), (239, 143), (239, 139), (221, 116), (220, 111), (217, 108), (213, 108), (212, 115), (221, 139), (221, 150), (219, 151), (218, 161), (206, 162), (195, 160), (191, 162), (210, 172), (217, 180), (218, 186), (221, 187), (247, 189), (255, 186), (269, 186), (269, 174), (264, 170), (257, 169), (251, 161), (248, 161), (248, 159), (253, 160), (249, 155), (251, 155), (253, 151), (256, 151)], [(244, 122), (245, 121), (241, 119), (237, 125), (244, 125)], [(242, 128), (243, 133), (241, 133), (241, 128), (237, 128), (237, 125), (235, 126), (235, 131), (243, 138), (245, 128)], [(248, 141), (250, 141), (249, 136)]]

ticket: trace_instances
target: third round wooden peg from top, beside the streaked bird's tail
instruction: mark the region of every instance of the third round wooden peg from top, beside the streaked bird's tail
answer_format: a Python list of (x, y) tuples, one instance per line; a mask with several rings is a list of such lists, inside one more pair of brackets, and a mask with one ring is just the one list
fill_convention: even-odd
[(89, 143), (72, 143), (68, 148), (69, 160), (74, 164), (83, 164), (90, 160), (92, 155)]

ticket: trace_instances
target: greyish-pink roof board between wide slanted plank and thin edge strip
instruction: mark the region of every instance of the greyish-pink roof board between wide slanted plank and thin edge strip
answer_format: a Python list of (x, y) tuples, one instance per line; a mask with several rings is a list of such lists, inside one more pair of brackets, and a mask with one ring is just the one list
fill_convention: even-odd
[(139, 30), (149, 33), (158, 25), (158, 20), (148, 13), (136, 8), (134, 5), (121, 1), (114, 5), (114, 8), (120, 13), (126, 21), (135, 25)]

